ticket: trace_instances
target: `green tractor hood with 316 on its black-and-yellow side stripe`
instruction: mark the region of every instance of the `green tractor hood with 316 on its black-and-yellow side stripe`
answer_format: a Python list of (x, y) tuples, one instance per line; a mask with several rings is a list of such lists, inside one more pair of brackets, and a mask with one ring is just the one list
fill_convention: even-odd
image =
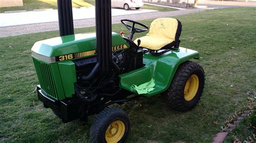
[[(129, 48), (126, 41), (112, 32), (112, 51)], [(66, 35), (37, 41), (32, 49), (32, 56), (45, 62), (74, 60), (96, 54), (96, 33)]]

